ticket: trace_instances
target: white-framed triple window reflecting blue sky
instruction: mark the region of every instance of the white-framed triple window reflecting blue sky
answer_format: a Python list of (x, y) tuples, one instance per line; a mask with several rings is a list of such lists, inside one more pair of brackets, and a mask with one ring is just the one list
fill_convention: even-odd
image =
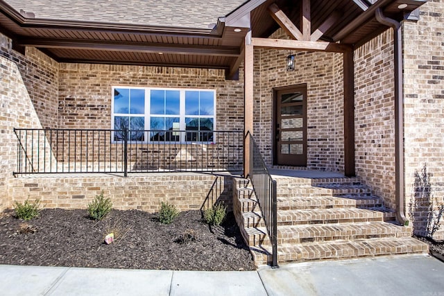
[(212, 89), (113, 87), (112, 91), (114, 141), (213, 141), (216, 92)]

